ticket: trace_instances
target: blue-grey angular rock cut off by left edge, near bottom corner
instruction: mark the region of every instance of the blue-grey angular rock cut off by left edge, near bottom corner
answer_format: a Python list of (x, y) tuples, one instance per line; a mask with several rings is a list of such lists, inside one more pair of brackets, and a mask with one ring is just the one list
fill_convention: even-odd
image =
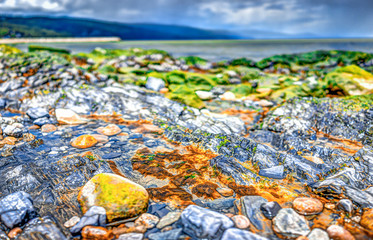
[(28, 193), (15, 192), (0, 200), (1, 221), (10, 229), (26, 223), (36, 215)]

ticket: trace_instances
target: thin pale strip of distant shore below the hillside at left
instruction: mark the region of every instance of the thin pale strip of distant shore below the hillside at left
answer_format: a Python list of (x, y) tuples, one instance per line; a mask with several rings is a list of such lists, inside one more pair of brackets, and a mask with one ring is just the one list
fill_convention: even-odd
[(79, 43), (79, 42), (119, 42), (119, 37), (74, 37), (74, 38), (3, 38), (0, 44), (15, 43)]

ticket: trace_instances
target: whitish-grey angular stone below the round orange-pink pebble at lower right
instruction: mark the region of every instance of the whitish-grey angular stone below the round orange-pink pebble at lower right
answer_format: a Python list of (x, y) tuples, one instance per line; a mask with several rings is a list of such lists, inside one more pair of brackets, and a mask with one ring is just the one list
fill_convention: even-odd
[(306, 219), (291, 208), (281, 209), (273, 218), (273, 230), (285, 238), (307, 236), (310, 228)]

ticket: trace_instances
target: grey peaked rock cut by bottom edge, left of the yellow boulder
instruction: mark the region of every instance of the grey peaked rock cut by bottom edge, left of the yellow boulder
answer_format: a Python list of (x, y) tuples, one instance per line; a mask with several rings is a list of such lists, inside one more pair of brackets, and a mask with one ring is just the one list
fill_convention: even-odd
[(23, 232), (18, 235), (20, 240), (67, 240), (70, 236), (66, 236), (61, 228), (56, 223), (48, 218), (35, 218), (27, 223)]

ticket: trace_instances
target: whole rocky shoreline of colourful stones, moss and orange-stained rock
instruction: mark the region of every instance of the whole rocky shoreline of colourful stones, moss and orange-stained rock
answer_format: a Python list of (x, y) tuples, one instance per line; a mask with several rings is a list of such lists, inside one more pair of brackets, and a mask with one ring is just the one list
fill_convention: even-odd
[(0, 50), (0, 239), (373, 238), (372, 54)]

